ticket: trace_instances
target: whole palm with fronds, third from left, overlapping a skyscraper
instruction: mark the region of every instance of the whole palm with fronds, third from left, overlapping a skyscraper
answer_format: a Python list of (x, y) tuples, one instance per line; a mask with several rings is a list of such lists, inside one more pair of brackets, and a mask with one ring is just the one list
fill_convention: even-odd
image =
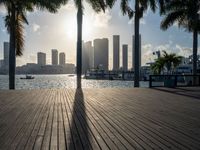
[[(130, 0), (121, 0), (121, 10), (123, 15), (128, 14), (131, 19), (134, 16), (134, 30), (135, 30), (135, 55), (134, 55), (134, 86), (139, 87), (139, 30), (140, 30), (140, 19), (143, 17), (144, 12), (150, 7), (155, 12), (157, 4), (164, 6), (167, 0), (135, 0), (134, 10), (130, 7)], [(163, 8), (163, 7), (161, 7)]]

